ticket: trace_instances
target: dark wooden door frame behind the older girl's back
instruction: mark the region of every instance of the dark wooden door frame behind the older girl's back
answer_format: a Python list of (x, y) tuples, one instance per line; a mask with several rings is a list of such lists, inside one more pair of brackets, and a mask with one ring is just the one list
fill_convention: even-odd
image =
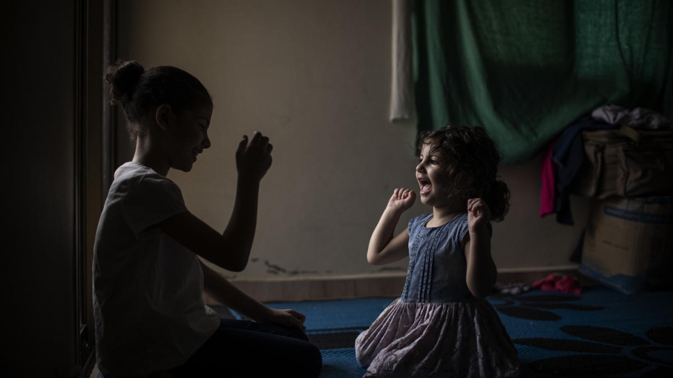
[(116, 117), (104, 77), (116, 54), (116, 9), (116, 0), (75, 6), (75, 362), (86, 377), (95, 364), (93, 242), (115, 162)]

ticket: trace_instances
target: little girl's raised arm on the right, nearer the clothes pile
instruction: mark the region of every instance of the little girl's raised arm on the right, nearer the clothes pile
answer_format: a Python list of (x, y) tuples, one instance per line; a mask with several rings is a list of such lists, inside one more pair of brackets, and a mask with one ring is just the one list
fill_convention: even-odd
[(465, 243), (467, 276), (465, 282), (472, 295), (486, 298), (497, 280), (497, 268), (490, 255), (490, 233), (486, 224), (490, 221), (490, 209), (481, 198), (469, 200), (467, 223), (470, 239)]

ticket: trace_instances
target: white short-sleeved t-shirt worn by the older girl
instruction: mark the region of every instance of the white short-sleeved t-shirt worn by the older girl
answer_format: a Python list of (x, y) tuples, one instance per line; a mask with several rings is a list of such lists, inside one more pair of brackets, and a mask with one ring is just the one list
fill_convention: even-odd
[(114, 173), (93, 256), (93, 315), (103, 375), (182, 365), (219, 326), (203, 304), (199, 258), (156, 226), (187, 211), (178, 186), (141, 164)]

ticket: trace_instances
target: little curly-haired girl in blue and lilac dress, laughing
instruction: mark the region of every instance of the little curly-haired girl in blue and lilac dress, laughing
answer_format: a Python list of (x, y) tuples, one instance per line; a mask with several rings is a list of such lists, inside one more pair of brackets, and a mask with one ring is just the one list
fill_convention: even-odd
[(424, 132), (416, 178), (417, 216), (393, 237), (411, 189), (395, 189), (371, 235), (367, 260), (409, 256), (402, 295), (355, 341), (365, 377), (512, 377), (518, 357), (493, 306), (484, 299), (497, 278), (490, 221), (509, 210), (497, 178), (500, 154), (481, 127), (449, 125)]

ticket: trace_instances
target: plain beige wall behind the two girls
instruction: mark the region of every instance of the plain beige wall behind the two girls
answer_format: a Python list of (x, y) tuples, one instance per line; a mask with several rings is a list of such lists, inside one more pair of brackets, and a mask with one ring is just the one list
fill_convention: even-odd
[[(261, 130), (274, 144), (258, 234), (235, 279), (403, 274), (368, 265), (371, 230), (395, 187), (417, 187), (415, 125), (388, 120), (390, 0), (120, 1), (120, 56), (176, 65), (209, 88), (212, 148), (171, 171), (187, 206), (223, 229), (235, 195), (234, 150)], [(495, 224), (500, 271), (566, 269), (576, 226), (539, 218), (540, 161), (502, 168), (512, 208)], [(429, 209), (419, 201), (406, 214)]]

